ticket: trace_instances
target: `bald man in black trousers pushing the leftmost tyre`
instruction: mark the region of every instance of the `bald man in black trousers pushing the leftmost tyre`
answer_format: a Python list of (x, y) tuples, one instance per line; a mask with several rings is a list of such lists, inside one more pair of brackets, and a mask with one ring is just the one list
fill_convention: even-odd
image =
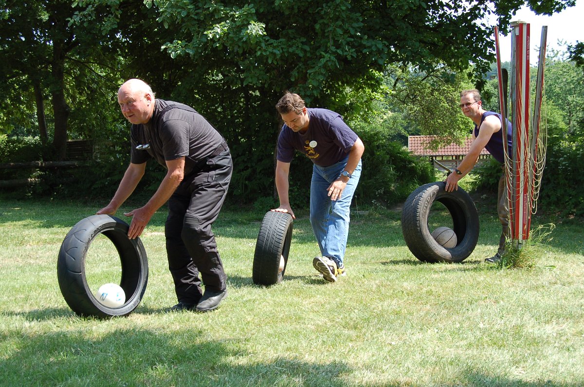
[(227, 276), (211, 225), (231, 180), (229, 148), (192, 107), (155, 99), (140, 79), (121, 85), (118, 102), (132, 123), (130, 166), (110, 203), (97, 213), (116, 213), (144, 176), (149, 159), (164, 166), (166, 176), (148, 203), (124, 214), (132, 217), (128, 238), (140, 236), (154, 212), (168, 201), (166, 253), (178, 298), (171, 310), (211, 311), (227, 296)]

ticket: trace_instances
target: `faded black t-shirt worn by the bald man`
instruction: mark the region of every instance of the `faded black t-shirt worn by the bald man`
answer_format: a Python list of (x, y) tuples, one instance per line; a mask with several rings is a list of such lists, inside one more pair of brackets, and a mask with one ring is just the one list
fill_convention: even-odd
[[(167, 160), (185, 156), (185, 175), (224, 141), (213, 125), (192, 107), (162, 99), (155, 100), (148, 123), (132, 125), (130, 138), (132, 163), (142, 164), (154, 158), (166, 168)], [(144, 149), (140, 145), (148, 146)]]

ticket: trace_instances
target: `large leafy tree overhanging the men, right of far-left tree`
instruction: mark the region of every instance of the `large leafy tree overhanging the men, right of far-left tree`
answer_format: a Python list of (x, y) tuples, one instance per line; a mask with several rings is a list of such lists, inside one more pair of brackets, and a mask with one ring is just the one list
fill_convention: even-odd
[[(79, 4), (109, 6), (112, 26), (125, 14), (119, 13), (124, 1)], [(494, 58), (494, 45), (491, 27), (477, 20), (499, 13), (505, 30), (512, 12), (524, 2), (145, 0), (144, 4), (155, 11), (159, 25), (175, 32), (162, 44), (165, 53), (189, 60), (191, 69), (173, 79), (176, 88), (164, 97), (192, 104), (225, 135), (238, 160), (231, 192), (245, 197), (272, 186), (271, 179), (258, 176), (273, 174), (280, 127), (273, 106), (284, 90), (300, 93), (309, 106), (328, 107), (350, 120), (361, 113), (356, 107), (366, 105), (349, 103), (363, 102), (350, 96), (377, 92), (388, 64), (427, 73), (436, 63), (467, 71), (472, 61), (475, 72), (481, 73)], [(537, 13), (550, 14), (574, 2), (528, 4)], [(79, 15), (79, 20), (91, 18), (91, 13)]]

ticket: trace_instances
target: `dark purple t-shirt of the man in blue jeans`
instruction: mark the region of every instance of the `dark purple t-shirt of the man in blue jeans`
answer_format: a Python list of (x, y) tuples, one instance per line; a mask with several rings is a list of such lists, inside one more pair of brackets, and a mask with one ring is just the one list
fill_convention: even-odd
[(308, 130), (296, 133), (284, 124), (278, 137), (277, 160), (289, 163), (300, 151), (318, 166), (331, 166), (346, 158), (357, 141), (357, 134), (339, 113), (327, 109), (307, 109)]

